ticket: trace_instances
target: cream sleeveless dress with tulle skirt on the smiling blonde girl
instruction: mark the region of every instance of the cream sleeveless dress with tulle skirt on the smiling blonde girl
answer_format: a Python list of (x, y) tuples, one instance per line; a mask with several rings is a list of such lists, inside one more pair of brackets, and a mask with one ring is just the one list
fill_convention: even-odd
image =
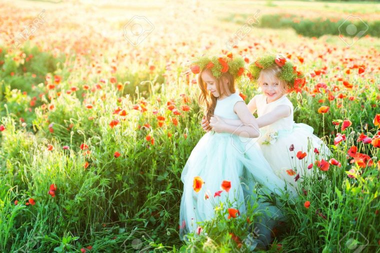
[[(286, 95), (267, 103), (266, 96), (259, 94), (255, 96), (255, 102), (258, 117), (273, 111), (278, 105), (284, 104), (290, 107), (289, 116), (260, 128), (261, 136), (257, 142), (276, 175), (285, 179), (293, 187), (297, 187), (302, 177), (311, 173), (307, 165), (316, 159), (326, 159), (330, 150), (318, 136), (313, 134), (314, 129), (311, 126), (294, 122), (293, 104)], [(317, 148), (319, 154), (314, 152), (314, 148)], [(298, 159), (296, 156), (298, 151), (306, 152), (306, 156)], [(296, 173), (289, 175), (286, 172), (289, 169), (293, 169)], [(292, 171), (289, 172), (291, 174)], [(299, 179), (297, 179), (298, 174)]]

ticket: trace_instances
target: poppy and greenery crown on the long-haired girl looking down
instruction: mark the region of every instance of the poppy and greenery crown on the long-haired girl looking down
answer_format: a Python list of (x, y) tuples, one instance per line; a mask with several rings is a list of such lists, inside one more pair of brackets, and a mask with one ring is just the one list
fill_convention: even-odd
[(205, 68), (210, 69), (215, 78), (228, 71), (234, 79), (237, 79), (244, 73), (244, 60), (240, 56), (232, 57), (231, 52), (221, 57), (204, 55), (196, 58), (190, 67), (194, 74)]

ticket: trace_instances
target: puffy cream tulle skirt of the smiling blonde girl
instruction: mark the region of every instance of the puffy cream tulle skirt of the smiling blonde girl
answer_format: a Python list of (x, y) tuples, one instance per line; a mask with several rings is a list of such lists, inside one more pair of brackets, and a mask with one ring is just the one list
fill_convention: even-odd
[[(267, 136), (266, 132), (257, 140), (262, 153), (274, 173), (295, 188), (305, 175), (311, 175), (313, 170), (307, 168), (310, 163), (327, 159), (331, 153), (324, 142), (313, 134), (313, 128), (304, 123), (294, 123), (292, 130), (278, 130), (277, 135), (265, 143)], [(306, 156), (297, 157), (298, 151), (305, 152)]]

